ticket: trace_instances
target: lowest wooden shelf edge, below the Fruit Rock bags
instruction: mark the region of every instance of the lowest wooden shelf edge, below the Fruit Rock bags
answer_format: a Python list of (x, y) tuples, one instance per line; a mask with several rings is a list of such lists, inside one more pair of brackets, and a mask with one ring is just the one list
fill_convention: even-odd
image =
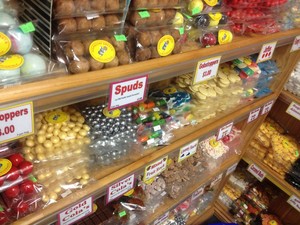
[(211, 178), (214, 178), (214, 177), (218, 176), (219, 174), (223, 173), (230, 166), (232, 166), (235, 163), (239, 162), (239, 160), (240, 160), (239, 156), (230, 157), (228, 160), (226, 160), (224, 163), (222, 163), (217, 169), (215, 169), (211, 172), (203, 174), (201, 176), (201, 178), (198, 179), (198, 181), (195, 184), (189, 186), (180, 197), (178, 197), (176, 199), (167, 198), (164, 201), (164, 204), (159, 206), (155, 210), (155, 212), (148, 217), (147, 224), (151, 224), (157, 218), (162, 216), (164, 213), (166, 213), (166, 212), (172, 210), (173, 208), (175, 208), (178, 204), (180, 204), (185, 199), (190, 197), (198, 188), (200, 188), (201, 186), (206, 184)]

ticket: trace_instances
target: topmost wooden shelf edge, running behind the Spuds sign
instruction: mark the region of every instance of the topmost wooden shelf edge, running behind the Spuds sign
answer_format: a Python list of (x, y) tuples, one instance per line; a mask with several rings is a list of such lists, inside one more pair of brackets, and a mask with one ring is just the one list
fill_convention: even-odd
[(222, 56), (222, 62), (257, 53), (265, 43), (277, 41), (277, 47), (293, 43), (300, 29), (255, 37), (236, 37), (227, 45), (204, 48), (165, 58), (153, 59), (101, 71), (55, 76), (46, 80), (11, 86), (0, 90), (1, 107), (33, 101), (35, 112), (57, 108), (108, 94), (111, 82), (149, 75), (150, 82), (166, 80), (195, 70), (199, 60)]

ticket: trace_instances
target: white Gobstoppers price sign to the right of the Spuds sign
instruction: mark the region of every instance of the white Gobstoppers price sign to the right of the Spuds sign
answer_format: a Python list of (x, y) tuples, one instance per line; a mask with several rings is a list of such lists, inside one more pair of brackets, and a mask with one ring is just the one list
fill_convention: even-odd
[(219, 69), (221, 56), (199, 61), (194, 75), (194, 84), (214, 78)]

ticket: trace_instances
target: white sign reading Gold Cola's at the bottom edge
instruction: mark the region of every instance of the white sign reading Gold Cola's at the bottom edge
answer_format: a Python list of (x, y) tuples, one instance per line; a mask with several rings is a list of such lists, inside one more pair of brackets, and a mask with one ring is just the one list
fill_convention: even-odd
[(69, 225), (93, 213), (93, 199), (89, 197), (58, 214), (58, 225)]

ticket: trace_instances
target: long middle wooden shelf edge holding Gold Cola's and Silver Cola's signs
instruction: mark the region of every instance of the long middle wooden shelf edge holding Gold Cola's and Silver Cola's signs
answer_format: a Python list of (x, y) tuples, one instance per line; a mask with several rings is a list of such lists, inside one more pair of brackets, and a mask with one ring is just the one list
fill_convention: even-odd
[(251, 104), (240, 107), (228, 113), (227, 115), (208, 120), (204, 123), (200, 123), (195, 126), (187, 126), (174, 132), (172, 144), (160, 148), (159, 150), (147, 150), (143, 156), (132, 154), (130, 159), (126, 159), (123, 162), (115, 163), (113, 166), (102, 168), (97, 171), (97, 180), (89, 184), (82, 190), (75, 192), (74, 194), (60, 200), (58, 203), (48, 206), (38, 213), (33, 213), (15, 222), (15, 224), (24, 224), (24, 221), (31, 224), (46, 224), (51, 223), (57, 219), (57, 214), (82, 199), (89, 196), (99, 198), (103, 196), (108, 185), (120, 180), (133, 173), (141, 173), (146, 165), (154, 162), (157, 159), (162, 158), (174, 151), (177, 151), (180, 147), (196, 140), (197, 138), (204, 138), (206, 136), (217, 133), (217, 129), (231, 121), (241, 121), (247, 118), (249, 112), (253, 109), (263, 106), (265, 103), (276, 99), (276, 94), (271, 94), (267, 97), (252, 102)]

